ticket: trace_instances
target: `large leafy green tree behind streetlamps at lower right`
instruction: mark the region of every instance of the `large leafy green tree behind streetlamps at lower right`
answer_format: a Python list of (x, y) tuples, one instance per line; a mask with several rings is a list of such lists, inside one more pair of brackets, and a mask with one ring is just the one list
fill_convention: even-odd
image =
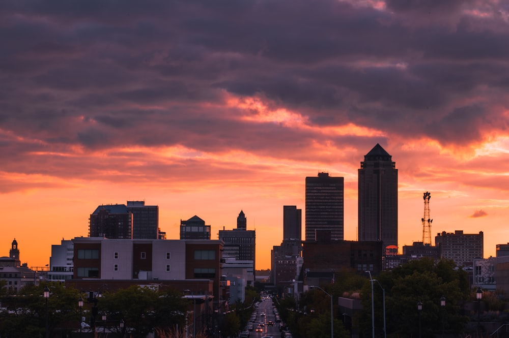
[[(375, 277), (374, 277), (375, 278)], [(418, 336), (417, 302), (422, 303), (422, 337), (435, 336), (442, 330), (459, 333), (467, 318), (460, 314), (463, 299), (469, 294), (466, 273), (456, 269), (454, 262), (423, 258), (410, 261), (393, 270), (384, 271), (376, 278), (385, 289), (386, 334), (388, 337)], [(468, 280), (467, 280), (468, 282)], [(382, 290), (374, 283), (375, 329), (383, 330)], [(358, 318), (364, 334), (371, 335), (371, 283), (366, 280), (361, 291), (363, 311)], [(445, 309), (440, 298), (446, 298)], [(444, 321), (442, 322), (442, 316)]]

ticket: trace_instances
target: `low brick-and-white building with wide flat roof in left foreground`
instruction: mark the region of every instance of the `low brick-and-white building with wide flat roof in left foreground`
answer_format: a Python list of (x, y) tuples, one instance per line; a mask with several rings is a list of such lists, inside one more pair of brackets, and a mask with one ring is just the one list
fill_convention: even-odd
[(211, 281), (216, 308), (218, 300), (225, 299), (221, 284), (222, 241), (103, 237), (76, 237), (72, 241), (73, 279), (66, 283), (81, 286), (82, 290), (98, 285), (97, 281), (100, 285), (124, 287), (186, 281), (185, 289), (196, 291), (202, 288), (202, 281)]

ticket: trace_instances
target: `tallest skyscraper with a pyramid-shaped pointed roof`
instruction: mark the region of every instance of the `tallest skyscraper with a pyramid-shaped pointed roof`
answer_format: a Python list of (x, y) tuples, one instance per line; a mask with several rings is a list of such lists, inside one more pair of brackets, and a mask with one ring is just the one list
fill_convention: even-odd
[(359, 169), (359, 241), (398, 245), (398, 169), (377, 143)]

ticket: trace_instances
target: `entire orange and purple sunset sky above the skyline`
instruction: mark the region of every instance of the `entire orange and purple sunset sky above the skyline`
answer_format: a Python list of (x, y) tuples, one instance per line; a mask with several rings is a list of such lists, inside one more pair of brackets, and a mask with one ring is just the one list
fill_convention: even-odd
[[(49, 263), (101, 204), (144, 200), (179, 238), (244, 211), (257, 269), (304, 213), (306, 176), (345, 177), (377, 143), (399, 170), (399, 245), (509, 242), (509, 1), (0, 2), (0, 256)], [(304, 219), (304, 217), (303, 217)], [(304, 220), (302, 223), (304, 231)]]

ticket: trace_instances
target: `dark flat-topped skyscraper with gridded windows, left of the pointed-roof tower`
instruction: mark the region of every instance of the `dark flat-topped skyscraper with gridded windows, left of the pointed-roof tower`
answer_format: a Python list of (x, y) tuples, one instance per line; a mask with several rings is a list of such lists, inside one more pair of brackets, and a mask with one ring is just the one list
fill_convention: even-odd
[(326, 172), (306, 177), (306, 240), (317, 230), (330, 230), (331, 239), (343, 240), (344, 178)]

